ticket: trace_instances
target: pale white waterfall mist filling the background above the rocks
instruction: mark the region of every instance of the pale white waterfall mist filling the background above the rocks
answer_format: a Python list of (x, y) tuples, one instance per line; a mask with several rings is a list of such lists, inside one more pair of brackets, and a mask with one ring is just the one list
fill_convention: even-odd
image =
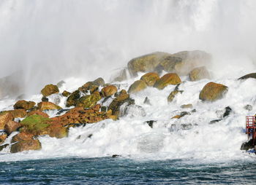
[(108, 81), (139, 55), (181, 50), (253, 70), (255, 9), (254, 0), (1, 0), (0, 77), (23, 71), (13, 80), (34, 93), (69, 76)]

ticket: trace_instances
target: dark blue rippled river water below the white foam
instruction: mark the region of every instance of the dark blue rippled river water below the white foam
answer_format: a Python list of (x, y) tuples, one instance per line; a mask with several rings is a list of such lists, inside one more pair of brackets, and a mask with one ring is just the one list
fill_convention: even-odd
[(0, 184), (256, 184), (255, 165), (123, 157), (0, 162)]

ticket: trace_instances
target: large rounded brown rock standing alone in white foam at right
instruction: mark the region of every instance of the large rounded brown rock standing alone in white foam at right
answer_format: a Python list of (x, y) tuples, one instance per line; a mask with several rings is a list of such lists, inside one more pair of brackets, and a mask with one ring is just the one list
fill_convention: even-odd
[(224, 97), (227, 93), (228, 87), (223, 84), (209, 82), (201, 90), (199, 99), (202, 101), (217, 101)]

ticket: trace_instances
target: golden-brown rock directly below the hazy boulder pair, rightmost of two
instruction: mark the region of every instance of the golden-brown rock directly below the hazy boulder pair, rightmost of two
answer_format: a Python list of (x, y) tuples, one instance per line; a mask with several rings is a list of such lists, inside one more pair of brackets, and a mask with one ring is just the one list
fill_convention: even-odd
[(154, 87), (157, 87), (159, 90), (163, 90), (169, 84), (180, 84), (181, 79), (177, 74), (165, 74), (154, 84)]

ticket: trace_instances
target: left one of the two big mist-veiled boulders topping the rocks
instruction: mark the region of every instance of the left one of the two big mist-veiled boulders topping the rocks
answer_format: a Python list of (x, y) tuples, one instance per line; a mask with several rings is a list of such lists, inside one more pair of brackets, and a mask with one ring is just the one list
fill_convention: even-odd
[(143, 55), (134, 58), (128, 63), (128, 70), (131, 76), (137, 76), (138, 72), (151, 72), (158, 66), (162, 58), (170, 55), (166, 52), (154, 52), (148, 55)]

